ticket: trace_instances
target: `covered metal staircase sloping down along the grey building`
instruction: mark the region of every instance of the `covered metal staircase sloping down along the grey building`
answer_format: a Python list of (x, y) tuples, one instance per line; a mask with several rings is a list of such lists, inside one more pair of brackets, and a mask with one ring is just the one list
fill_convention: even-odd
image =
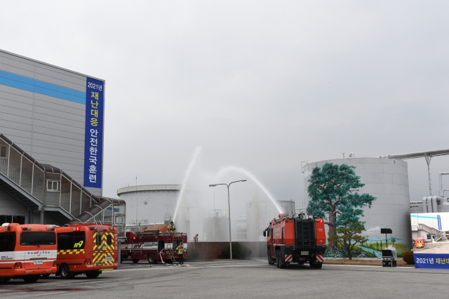
[[(2, 149), (6, 147), (6, 154), (3, 150), (0, 157), (0, 189), (32, 211), (30, 223), (43, 223), (44, 215), (49, 215), (49, 224), (63, 225), (94, 206), (97, 206), (94, 214), (98, 215), (116, 204), (114, 199), (107, 199), (101, 208), (98, 207), (104, 197), (91, 194), (59, 168), (40, 164), (1, 133), (0, 146)], [(54, 185), (48, 185), (49, 182)], [(37, 213), (40, 213), (39, 219), (32, 219)], [(106, 214), (102, 215), (102, 221), (112, 224), (114, 215), (119, 213), (108, 211)], [(123, 227), (117, 227), (117, 230), (124, 234), (124, 222)]]

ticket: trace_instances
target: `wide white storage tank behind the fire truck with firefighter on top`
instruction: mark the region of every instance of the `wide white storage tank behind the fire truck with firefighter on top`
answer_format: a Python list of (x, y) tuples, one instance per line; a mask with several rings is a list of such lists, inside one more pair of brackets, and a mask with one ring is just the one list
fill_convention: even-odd
[(163, 223), (166, 213), (175, 213), (181, 185), (139, 185), (117, 190), (120, 199), (126, 201), (126, 223), (136, 219), (149, 224)]

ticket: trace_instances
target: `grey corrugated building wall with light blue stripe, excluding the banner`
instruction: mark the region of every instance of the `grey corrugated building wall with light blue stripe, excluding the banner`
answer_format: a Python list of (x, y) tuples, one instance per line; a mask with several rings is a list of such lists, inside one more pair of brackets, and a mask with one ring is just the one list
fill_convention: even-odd
[[(0, 71), (16, 79), (10, 86), (0, 81), (0, 132), (40, 163), (61, 168), (83, 185), (86, 105), (76, 101), (86, 93), (86, 76), (5, 51), (0, 51)], [(4, 83), (11, 81), (6, 77)], [(27, 86), (36, 81), (28, 78), (46, 82), (41, 87), (46, 94), (29, 91)], [(76, 100), (58, 97), (72, 97), (65, 88)], [(87, 189), (102, 196), (102, 190)]]

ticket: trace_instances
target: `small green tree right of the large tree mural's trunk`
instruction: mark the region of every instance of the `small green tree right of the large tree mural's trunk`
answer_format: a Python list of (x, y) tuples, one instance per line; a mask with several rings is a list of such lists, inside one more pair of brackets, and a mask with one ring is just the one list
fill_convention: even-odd
[(346, 248), (346, 255), (349, 260), (352, 260), (351, 251), (354, 250), (356, 244), (363, 245), (368, 241), (366, 237), (361, 236), (362, 230), (365, 226), (361, 223), (350, 223), (347, 227), (338, 227), (335, 234), (328, 238), (329, 243), (342, 244)]

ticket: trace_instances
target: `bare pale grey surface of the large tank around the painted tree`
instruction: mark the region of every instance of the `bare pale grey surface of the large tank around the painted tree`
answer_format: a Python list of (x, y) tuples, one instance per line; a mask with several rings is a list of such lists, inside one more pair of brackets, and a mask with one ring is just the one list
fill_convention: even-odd
[[(358, 194), (370, 194), (377, 197), (371, 208), (363, 208), (361, 221), (365, 223), (366, 231), (363, 235), (368, 238), (367, 252), (379, 255), (380, 244), (385, 245), (385, 234), (380, 234), (380, 228), (391, 228), (393, 234), (387, 236), (394, 241), (398, 253), (408, 250), (410, 240), (410, 195), (408, 193), (408, 168), (407, 162), (388, 158), (347, 158), (319, 161), (304, 166), (304, 197), (306, 207), (309, 204), (307, 187), (312, 170), (322, 167), (326, 163), (337, 165), (347, 164), (355, 166), (355, 173), (360, 177), (360, 182), (365, 184), (359, 189)], [(326, 215), (327, 217), (327, 215)], [(326, 234), (328, 227), (326, 225)], [(370, 245), (373, 244), (373, 245)], [(402, 244), (402, 245), (400, 245)]]

